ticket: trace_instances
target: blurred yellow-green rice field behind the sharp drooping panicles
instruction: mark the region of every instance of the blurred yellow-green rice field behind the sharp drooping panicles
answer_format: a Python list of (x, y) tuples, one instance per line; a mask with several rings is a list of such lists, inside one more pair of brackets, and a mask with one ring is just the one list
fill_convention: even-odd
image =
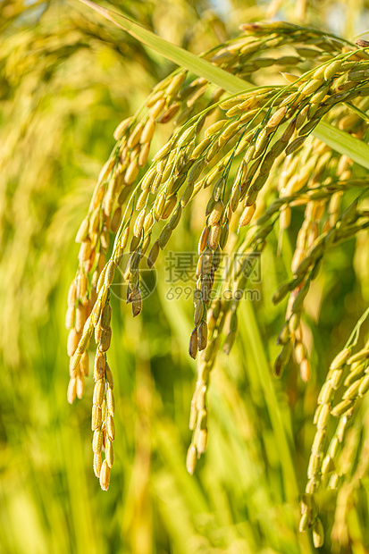
[[(346, 38), (369, 28), (361, 0), (111, 4), (194, 53), (237, 35), (243, 21), (303, 21)], [(160, 281), (132, 321), (113, 298), (115, 463), (110, 489), (101, 491), (90, 447), (92, 378), (84, 399), (66, 401), (63, 320), (77, 265), (74, 236), (114, 128), (173, 68), (77, 2), (4, 0), (0, 26), (0, 551), (314, 551), (297, 531), (298, 497), (318, 390), (369, 298), (367, 235), (356, 258), (345, 244), (314, 284), (308, 385), (293, 369), (279, 382), (271, 371), (283, 321), (271, 297), (291, 258), (288, 241), (275, 256), (274, 237), (263, 258), (262, 300), (241, 303), (235, 348), (217, 359), (209, 447), (192, 477), (185, 468), (196, 370), (187, 354), (191, 301), (168, 300)], [(196, 249), (197, 227), (192, 237), (177, 233), (171, 248)], [(366, 433), (353, 426), (351, 444)], [(368, 486), (366, 478), (348, 496), (344, 516), (334, 493), (324, 493), (321, 551), (367, 551)]]

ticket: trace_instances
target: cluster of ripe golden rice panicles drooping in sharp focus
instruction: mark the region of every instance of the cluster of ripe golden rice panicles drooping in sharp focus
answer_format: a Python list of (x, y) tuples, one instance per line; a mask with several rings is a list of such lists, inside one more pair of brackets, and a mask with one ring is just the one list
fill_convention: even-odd
[[(330, 147), (310, 138), (323, 118), (341, 129), (356, 126), (356, 136), (361, 136), (363, 119), (350, 105), (359, 111), (367, 107), (369, 70), (365, 51), (298, 26), (251, 24), (242, 29), (247, 37), (214, 48), (205, 57), (247, 79), (257, 79), (259, 70), (270, 71), (271, 75), (282, 70), (288, 84), (256, 87), (227, 97), (222, 88), (212, 88), (205, 79), (191, 80), (188, 71), (175, 71), (154, 88), (136, 115), (115, 130), (116, 146), (100, 174), (88, 215), (78, 232), (80, 265), (71, 285), (66, 316), (71, 355), (68, 399), (82, 396), (83, 378), (88, 373), (88, 341), (95, 328), (93, 451), (95, 473), (104, 490), (109, 486), (113, 466), (114, 439), (113, 377), (106, 360), (111, 340), (109, 289), (126, 250), (130, 257), (123, 278), (128, 285), (127, 302), (136, 316), (142, 308), (140, 266), (144, 256), (147, 265), (153, 267), (197, 195), (207, 195), (198, 239), (194, 329), (189, 338), (190, 356), (197, 357), (200, 352), (190, 415), (193, 435), (187, 457), (189, 473), (193, 473), (208, 440), (206, 392), (210, 372), (222, 335), (222, 348), (227, 354), (237, 335), (239, 298), (224, 302), (220, 291), (214, 290), (222, 252), (239, 251), (244, 257), (235, 278), (230, 272), (225, 274), (221, 290), (226, 286), (233, 293), (244, 290), (255, 256), (263, 252), (276, 223), (281, 241), (295, 207), (305, 206), (292, 259), (292, 279), (281, 285), (273, 300), (277, 303), (289, 296), (286, 321), (278, 338), (282, 349), (274, 372), (280, 375), (294, 354), (307, 382), (310, 362), (301, 318), (310, 283), (328, 248), (369, 226), (368, 214), (356, 202), (340, 213), (344, 192), (352, 187), (366, 189), (366, 180), (352, 180), (351, 161), (345, 156), (339, 158)], [(295, 55), (284, 53), (287, 45), (295, 48)], [(279, 48), (279, 57), (265, 55), (269, 49)], [(147, 167), (155, 132), (168, 122), (172, 134)], [(275, 187), (272, 177), (280, 171), (281, 179)], [(268, 207), (269, 197), (274, 199)], [(113, 249), (109, 232), (115, 235)], [(360, 374), (359, 379), (364, 378)], [(348, 408), (355, 403), (350, 395), (357, 392), (357, 387), (364, 387), (357, 382), (348, 390), (349, 398), (343, 399)], [(337, 410), (340, 412), (340, 408)], [(301, 530), (313, 526), (315, 546), (323, 543), (323, 527), (314, 508), (316, 475), (325, 440), (325, 412), (322, 414), (300, 525)]]

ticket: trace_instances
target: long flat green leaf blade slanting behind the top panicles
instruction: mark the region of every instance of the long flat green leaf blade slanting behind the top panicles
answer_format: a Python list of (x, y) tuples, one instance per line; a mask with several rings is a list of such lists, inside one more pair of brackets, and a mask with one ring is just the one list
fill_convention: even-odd
[[(195, 73), (199, 77), (204, 77), (217, 85), (224, 88), (231, 94), (243, 92), (247, 88), (253, 86), (246, 80), (239, 79), (231, 75), (228, 71), (224, 71), (219, 67), (215, 67), (212, 63), (194, 55), (179, 46), (174, 46), (164, 38), (157, 37), (151, 31), (138, 25), (135, 21), (131, 21), (128, 17), (120, 13), (113, 12), (101, 5), (91, 2), (91, 0), (80, 0), (82, 4), (88, 5), (97, 13), (103, 15), (107, 20), (112, 21), (121, 29), (130, 33), (134, 38), (137, 38), (143, 44), (149, 46), (159, 52), (168, 60), (184, 67)], [(333, 148), (340, 154), (348, 155), (356, 164), (360, 164), (366, 169), (369, 169), (369, 146), (363, 140), (356, 139), (343, 130), (333, 127), (330, 123), (320, 122), (312, 131), (314, 137), (323, 140), (325, 144)]]

